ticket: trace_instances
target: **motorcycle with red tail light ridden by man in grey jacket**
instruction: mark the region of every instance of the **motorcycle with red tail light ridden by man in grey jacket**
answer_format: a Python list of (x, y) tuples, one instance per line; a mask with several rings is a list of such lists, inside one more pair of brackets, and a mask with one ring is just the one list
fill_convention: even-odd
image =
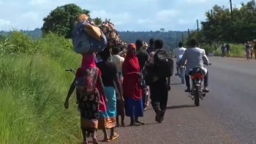
[(200, 105), (200, 99), (203, 100), (207, 93), (204, 91), (203, 85), (206, 73), (207, 69), (201, 69), (200, 67), (195, 67), (189, 72), (190, 78), (192, 79), (192, 88), (191, 91), (189, 91), (189, 97), (195, 101), (197, 107)]

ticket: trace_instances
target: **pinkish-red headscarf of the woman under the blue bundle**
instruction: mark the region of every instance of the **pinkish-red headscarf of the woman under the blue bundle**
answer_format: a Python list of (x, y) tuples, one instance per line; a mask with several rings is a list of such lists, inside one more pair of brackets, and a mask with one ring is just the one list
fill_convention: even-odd
[(91, 69), (91, 67), (96, 67), (96, 55), (95, 53), (85, 53), (82, 54), (82, 64), (81, 67), (85, 69)]

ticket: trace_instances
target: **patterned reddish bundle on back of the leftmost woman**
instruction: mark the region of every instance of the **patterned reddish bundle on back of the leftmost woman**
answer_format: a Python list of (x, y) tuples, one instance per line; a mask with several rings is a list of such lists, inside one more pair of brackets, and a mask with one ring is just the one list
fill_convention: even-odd
[(95, 92), (98, 72), (99, 69), (97, 67), (93, 67), (91, 70), (85, 69), (83, 77), (76, 78), (75, 86), (77, 87), (80, 96), (88, 96)]

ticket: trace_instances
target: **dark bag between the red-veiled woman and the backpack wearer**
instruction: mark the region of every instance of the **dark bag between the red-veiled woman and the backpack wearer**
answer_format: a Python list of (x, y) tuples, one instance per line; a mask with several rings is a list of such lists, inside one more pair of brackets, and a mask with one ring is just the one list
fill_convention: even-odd
[(142, 69), (142, 74), (146, 86), (150, 86), (154, 79), (154, 64), (146, 64)]

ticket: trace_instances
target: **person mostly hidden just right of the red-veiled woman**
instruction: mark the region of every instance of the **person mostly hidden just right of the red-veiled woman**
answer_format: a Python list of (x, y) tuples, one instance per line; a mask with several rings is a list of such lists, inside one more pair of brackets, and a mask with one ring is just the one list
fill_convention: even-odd
[[(140, 64), (140, 72), (142, 72), (143, 68), (145, 67), (145, 64), (149, 60), (148, 53), (143, 50), (143, 41), (138, 39), (135, 42), (136, 45), (136, 55)], [(148, 98), (147, 98), (147, 86), (144, 85), (142, 89), (142, 97), (143, 97), (143, 109), (146, 110), (146, 107), (148, 105)]]

